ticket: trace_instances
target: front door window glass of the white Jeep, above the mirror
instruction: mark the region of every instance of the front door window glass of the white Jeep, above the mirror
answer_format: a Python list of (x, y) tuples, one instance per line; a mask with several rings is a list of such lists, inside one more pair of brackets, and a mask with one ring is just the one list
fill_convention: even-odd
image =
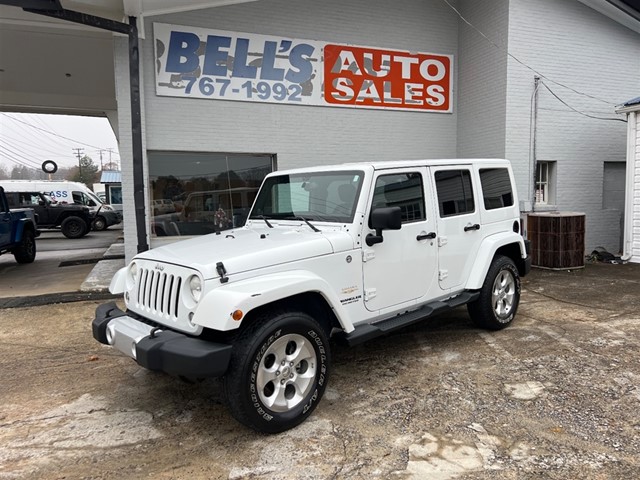
[(381, 175), (376, 180), (372, 208), (400, 207), (402, 223), (426, 219), (424, 188), (419, 173)]

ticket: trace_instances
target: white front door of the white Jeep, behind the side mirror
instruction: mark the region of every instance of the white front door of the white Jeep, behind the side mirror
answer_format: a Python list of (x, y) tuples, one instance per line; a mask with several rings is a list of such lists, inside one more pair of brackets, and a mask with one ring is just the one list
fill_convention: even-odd
[(384, 230), (382, 243), (363, 246), (365, 306), (379, 311), (437, 288), (437, 247), (427, 169), (383, 170), (374, 181), (368, 218), (380, 207), (400, 207), (402, 213), (400, 230)]

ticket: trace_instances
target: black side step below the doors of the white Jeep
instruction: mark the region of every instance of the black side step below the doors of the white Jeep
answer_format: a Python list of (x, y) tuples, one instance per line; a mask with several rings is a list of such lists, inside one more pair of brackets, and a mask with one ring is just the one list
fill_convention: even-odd
[(437, 313), (442, 313), (446, 310), (473, 302), (479, 296), (480, 292), (462, 292), (460, 295), (448, 300), (428, 303), (412, 312), (401, 313), (395, 317), (387, 318), (376, 323), (358, 325), (353, 332), (344, 334), (342, 339), (349, 346), (359, 345), (372, 338), (418, 323)]

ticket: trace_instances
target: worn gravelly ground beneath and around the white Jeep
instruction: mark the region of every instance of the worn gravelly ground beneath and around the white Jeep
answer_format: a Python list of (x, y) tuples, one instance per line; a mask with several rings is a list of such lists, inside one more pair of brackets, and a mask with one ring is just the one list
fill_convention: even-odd
[(640, 265), (534, 270), (500, 332), (462, 308), (333, 345), (314, 414), (272, 436), (218, 381), (95, 342), (97, 305), (0, 309), (0, 479), (640, 478)]

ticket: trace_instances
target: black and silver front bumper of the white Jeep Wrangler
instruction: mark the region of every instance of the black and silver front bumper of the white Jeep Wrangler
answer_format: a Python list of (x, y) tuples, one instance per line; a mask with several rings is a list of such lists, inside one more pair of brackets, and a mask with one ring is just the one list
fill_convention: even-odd
[(231, 359), (231, 345), (190, 337), (147, 325), (115, 302), (96, 309), (93, 338), (111, 345), (149, 370), (188, 378), (220, 377)]

